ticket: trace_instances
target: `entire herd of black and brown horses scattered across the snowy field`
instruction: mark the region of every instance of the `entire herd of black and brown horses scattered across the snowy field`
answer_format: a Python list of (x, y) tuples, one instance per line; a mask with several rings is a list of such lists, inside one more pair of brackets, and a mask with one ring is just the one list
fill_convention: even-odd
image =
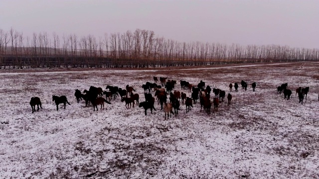
[[(205, 82), (200, 81), (197, 85), (190, 84), (186, 81), (180, 81), (180, 90), (186, 90), (188, 92), (191, 92), (190, 96), (187, 96), (185, 92), (180, 92), (176, 90), (177, 82), (175, 80), (167, 80), (167, 78), (160, 77), (160, 85), (157, 85), (156, 83), (159, 81), (157, 77), (153, 77), (154, 83), (146, 82), (146, 84), (142, 85), (142, 88), (144, 89), (144, 97), (145, 101), (139, 102), (140, 95), (136, 92), (136, 90), (133, 87), (130, 87), (129, 85), (126, 86), (125, 89), (119, 88), (119, 87), (113, 87), (113, 86), (107, 86), (106, 89), (109, 91), (103, 90), (102, 88), (97, 88), (91, 86), (89, 90), (84, 89), (83, 93), (79, 89), (75, 89), (75, 97), (77, 99), (77, 102), (79, 103), (80, 100), (85, 100), (85, 106), (90, 105), (90, 103), (93, 106), (93, 110), (95, 111), (95, 108), (98, 110), (98, 105), (101, 105), (101, 109), (103, 107), (104, 109), (104, 102), (111, 104), (111, 99), (116, 99), (116, 97), (120, 96), (121, 101), (125, 101), (125, 106), (127, 109), (131, 109), (132, 103), (133, 107), (134, 104), (138, 104), (139, 107), (143, 107), (145, 110), (145, 115), (147, 115), (147, 110), (150, 109), (151, 113), (153, 113), (153, 109), (155, 108), (155, 101), (158, 101), (158, 105), (160, 105), (160, 110), (164, 111), (165, 119), (166, 114), (167, 118), (171, 114), (177, 115), (178, 110), (180, 110), (180, 105), (186, 106), (186, 113), (188, 113), (191, 108), (193, 107), (193, 104), (197, 103), (197, 100), (199, 99), (200, 103), (200, 111), (202, 109), (210, 115), (211, 107), (214, 107), (214, 112), (218, 111), (218, 105), (220, 102), (223, 102), (224, 97), (226, 96), (226, 91), (222, 89), (211, 89), (209, 85), (205, 85)], [(255, 88), (257, 86), (257, 83), (254, 82), (251, 84), (251, 87), (253, 91), (255, 91)], [(234, 83), (229, 84), (229, 92), (232, 92), (232, 88), (235, 88), (235, 92), (238, 91), (238, 84)], [(242, 89), (247, 90), (247, 83), (245, 81), (241, 81), (241, 87)], [(284, 92), (284, 98), (287, 98), (287, 100), (290, 99), (290, 95), (292, 94), (292, 91), (290, 89), (287, 89), (288, 84), (282, 84), (277, 88), (277, 92), (281, 94), (281, 92)], [(154, 96), (152, 95), (152, 92), (154, 93)], [(298, 88), (296, 89), (296, 95), (298, 93), (299, 96), (299, 102), (303, 104), (304, 96), (309, 92), (309, 87), (307, 88)], [(105, 95), (106, 98), (103, 96)], [(212, 99), (211, 96), (212, 95)], [(156, 97), (156, 99), (155, 99)], [(108, 99), (108, 100), (107, 100)], [(169, 102), (168, 100), (169, 99)], [(228, 93), (227, 95), (229, 106), (232, 100), (232, 94)], [(318, 96), (319, 100), (319, 96)], [(56, 104), (56, 110), (58, 110), (58, 105), (60, 103), (64, 104), (64, 109), (66, 106), (66, 103), (70, 105), (70, 103), (67, 100), (67, 97), (62, 96), (55, 96), (52, 95), (52, 101)], [(180, 104), (181, 102), (181, 104)], [(41, 106), (41, 101), (39, 97), (32, 97), (30, 100), (30, 105), (32, 108), (32, 113), (35, 111), (35, 105), (37, 105), (37, 111)], [(173, 111), (174, 110), (174, 111)]]

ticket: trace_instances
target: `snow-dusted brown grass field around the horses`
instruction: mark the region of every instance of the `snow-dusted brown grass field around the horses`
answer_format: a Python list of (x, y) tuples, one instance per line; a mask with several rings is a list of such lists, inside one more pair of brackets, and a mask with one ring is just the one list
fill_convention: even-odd
[[(319, 63), (210, 67), (1, 70), (0, 178), (319, 178)], [(120, 97), (93, 111), (74, 96), (75, 89), (90, 86), (130, 85), (141, 102), (141, 86), (153, 83), (153, 76), (191, 84), (203, 80), (226, 92), (229, 83), (241, 80), (249, 87), (231, 92), (231, 106), (223, 102), (210, 116), (197, 103), (187, 114), (182, 105), (168, 120), (157, 103), (157, 111), (145, 116), (138, 106), (126, 109)], [(252, 82), (258, 83), (255, 92)], [(288, 101), (276, 93), (283, 83), (293, 91)], [(303, 105), (295, 96), (300, 86), (310, 87)], [(179, 83), (175, 89), (187, 92)], [(53, 94), (66, 95), (71, 105), (60, 104), (56, 111)], [(32, 96), (40, 97), (43, 107), (33, 114)]]

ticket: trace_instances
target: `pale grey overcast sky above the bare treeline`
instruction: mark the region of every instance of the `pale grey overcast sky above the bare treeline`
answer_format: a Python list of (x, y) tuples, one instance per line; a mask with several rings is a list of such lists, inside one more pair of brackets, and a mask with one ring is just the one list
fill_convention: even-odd
[(0, 0), (0, 28), (78, 36), (137, 28), (180, 42), (319, 49), (319, 0)]

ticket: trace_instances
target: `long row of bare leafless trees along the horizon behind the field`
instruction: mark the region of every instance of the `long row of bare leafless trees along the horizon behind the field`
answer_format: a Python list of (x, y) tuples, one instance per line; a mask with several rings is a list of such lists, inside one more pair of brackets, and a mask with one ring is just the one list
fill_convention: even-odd
[(177, 42), (154, 31), (105, 33), (79, 37), (46, 32), (23, 36), (0, 29), (0, 68), (24, 67), (156, 67), (319, 60), (319, 49), (280, 45)]

